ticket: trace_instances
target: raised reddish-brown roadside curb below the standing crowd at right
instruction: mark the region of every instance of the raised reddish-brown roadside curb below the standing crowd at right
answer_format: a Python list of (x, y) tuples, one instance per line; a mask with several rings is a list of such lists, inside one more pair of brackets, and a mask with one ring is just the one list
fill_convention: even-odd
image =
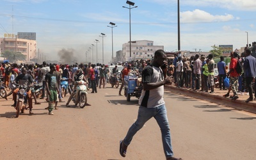
[(182, 95), (188, 95), (189, 97), (194, 97), (196, 99), (207, 100), (210, 102), (214, 102), (216, 104), (221, 104), (224, 106), (228, 106), (230, 108), (236, 108), (239, 110), (247, 111), (250, 113), (256, 114), (256, 104), (254, 102), (244, 102), (244, 100), (231, 100), (226, 97), (222, 97), (222, 95), (214, 95), (210, 93), (198, 92), (194, 90), (188, 90), (187, 88), (177, 88), (176, 86), (166, 85), (166, 88), (170, 88), (172, 92), (180, 93)]

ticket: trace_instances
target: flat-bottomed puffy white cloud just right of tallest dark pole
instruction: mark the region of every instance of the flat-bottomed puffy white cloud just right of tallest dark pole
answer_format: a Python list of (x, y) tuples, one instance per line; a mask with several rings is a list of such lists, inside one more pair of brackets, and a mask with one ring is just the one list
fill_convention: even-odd
[(203, 10), (193, 10), (181, 12), (180, 22), (216, 22), (216, 21), (227, 21), (234, 19), (233, 15), (211, 15), (211, 13), (205, 12)]

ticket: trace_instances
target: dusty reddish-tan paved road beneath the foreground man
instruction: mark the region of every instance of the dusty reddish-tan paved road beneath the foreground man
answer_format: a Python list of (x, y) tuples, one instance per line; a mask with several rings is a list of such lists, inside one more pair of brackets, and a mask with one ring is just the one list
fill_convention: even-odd
[[(154, 119), (134, 136), (127, 157), (118, 153), (118, 141), (136, 120), (137, 99), (127, 102), (116, 88), (89, 92), (88, 99), (92, 106), (84, 109), (60, 103), (53, 116), (44, 102), (34, 106), (34, 115), (19, 118), (11, 99), (0, 99), (0, 159), (165, 159)], [(256, 115), (168, 90), (164, 99), (175, 156), (255, 159)]]

